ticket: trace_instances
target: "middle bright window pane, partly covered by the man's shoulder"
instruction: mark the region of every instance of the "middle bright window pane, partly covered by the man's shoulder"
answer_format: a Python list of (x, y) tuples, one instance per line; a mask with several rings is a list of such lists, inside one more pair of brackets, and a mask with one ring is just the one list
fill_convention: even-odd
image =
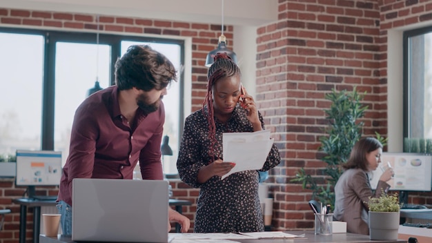
[(101, 88), (110, 86), (111, 50), (108, 45), (63, 41), (56, 43), (55, 50), (54, 150), (62, 152), (64, 164), (75, 110), (97, 77)]

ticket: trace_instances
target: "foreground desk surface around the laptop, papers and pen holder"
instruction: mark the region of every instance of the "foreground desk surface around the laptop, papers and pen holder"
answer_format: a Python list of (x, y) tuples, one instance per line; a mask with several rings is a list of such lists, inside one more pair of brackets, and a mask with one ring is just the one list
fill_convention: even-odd
[[(406, 240), (369, 240), (369, 235), (357, 235), (353, 233), (337, 233), (333, 235), (315, 235), (313, 231), (287, 231), (287, 233), (291, 233), (293, 235), (301, 235), (302, 233), (306, 234), (306, 239), (298, 238), (298, 239), (260, 239), (260, 240), (235, 240), (236, 242), (242, 243), (325, 243), (325, 242), (333, 242), (333, 243), (406, 243)], [(58, 237), (46, 237), (45, 235), (39, 236), (40, 243), (72, 243), (72, 239), (70, 237), (65, 237), (59, 235)], [(201, 241), (202, 242), (202, 241)], [(175, 240), (173, 240), (175, 243)]]

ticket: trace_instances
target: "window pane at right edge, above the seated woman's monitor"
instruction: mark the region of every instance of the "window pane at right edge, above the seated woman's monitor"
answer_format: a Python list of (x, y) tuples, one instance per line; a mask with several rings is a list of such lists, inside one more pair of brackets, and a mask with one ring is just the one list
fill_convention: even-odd
[(432, 27), (404, 32), (404, 137), (432, 138)]

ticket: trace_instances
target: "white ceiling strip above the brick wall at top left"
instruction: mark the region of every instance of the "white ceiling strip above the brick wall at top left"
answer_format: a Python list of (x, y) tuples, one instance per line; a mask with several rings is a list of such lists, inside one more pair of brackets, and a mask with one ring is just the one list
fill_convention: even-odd
[(277, 21), (277, 0), (1, 0), (0, 8), (106, 14), (234, 26)]

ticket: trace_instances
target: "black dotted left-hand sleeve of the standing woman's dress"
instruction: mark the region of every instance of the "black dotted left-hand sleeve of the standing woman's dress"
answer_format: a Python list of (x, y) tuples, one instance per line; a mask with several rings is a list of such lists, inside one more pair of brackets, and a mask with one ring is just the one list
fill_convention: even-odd
[(179, 157), (177, 158), (177, 170), (180, 179), (189, 186), (198, 188), (201, 184), (197, 181), (199, 170), (206, 166), (198, 152), (202, 144), (194, 133), (193, 121), (186, 118), (184, 132), (181, 137)]

